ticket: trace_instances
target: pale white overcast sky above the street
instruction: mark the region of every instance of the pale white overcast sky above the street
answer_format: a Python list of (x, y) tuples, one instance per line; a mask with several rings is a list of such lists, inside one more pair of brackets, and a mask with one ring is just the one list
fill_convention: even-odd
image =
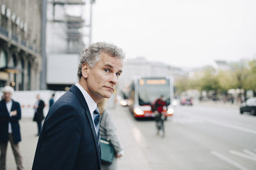
[(96, 0), (92, 41), (171, 66), (256, 59), (255, 0)]

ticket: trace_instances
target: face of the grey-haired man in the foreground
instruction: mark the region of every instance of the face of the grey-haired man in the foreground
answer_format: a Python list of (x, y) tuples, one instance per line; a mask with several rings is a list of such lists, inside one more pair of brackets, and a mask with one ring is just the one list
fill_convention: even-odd
[(84, 78), (87, 78), (88, 89), (86, 91), (94, 101), (97, 102), (103, 97), (111, 97), (118, 83), (118, 77), (122, 73), (122, 68), (122, 59), (112, 57), (104, 52), (100, 53), (99, 61), (95, 63), (94, 67), (88, 67), (87, 74), (83, 74), (83, 76), (85, 75)]

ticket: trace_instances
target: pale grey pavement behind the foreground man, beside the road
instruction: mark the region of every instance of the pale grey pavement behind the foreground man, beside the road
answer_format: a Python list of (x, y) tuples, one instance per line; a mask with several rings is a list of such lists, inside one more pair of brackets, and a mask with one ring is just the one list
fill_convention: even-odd
[[(122, 170), (150, 170), (147, 157), (145, 156), (145, 146), (143, 146), (143, 136), (140, 131), (134, 126), (129, 113), (124, 111), (121, 106), (116, 106), (115, 109), (109, 110), (117, 129), (118, 139), (122, 143), (125, 154), (124, 157), (118, 159), (118, 169)], [(127, 108), (125, 108), (126, 110)], [(22, 141), (20, 145), (20, 153), (23, 157), (23, 164), (26, 170), (32, 168), (33, 159), (38, 137), (36, 123), (32, 118), (22, 118), (20, 120), (20, 131)], [(42, 160), (43, 161), (43, 160)], [(7, 148), (6, 155), (6, 170), (16, 170), (16, 164), (12, 153), (10, 143)]]

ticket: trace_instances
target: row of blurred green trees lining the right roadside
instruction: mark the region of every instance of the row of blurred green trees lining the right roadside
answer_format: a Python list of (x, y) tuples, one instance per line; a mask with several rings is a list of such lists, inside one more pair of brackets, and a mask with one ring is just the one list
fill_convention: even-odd
[(228, 89), (254, 90), (256, 92), (256, 60), (248, 64), (237, 63), (232, 65), (230, 71), (219, 71), (208, 67), (204, 71), (198, 71), (192, 78), (180, 78), (175, 83), (177, 92), (189, 89), (215, 90), (227, 92)]

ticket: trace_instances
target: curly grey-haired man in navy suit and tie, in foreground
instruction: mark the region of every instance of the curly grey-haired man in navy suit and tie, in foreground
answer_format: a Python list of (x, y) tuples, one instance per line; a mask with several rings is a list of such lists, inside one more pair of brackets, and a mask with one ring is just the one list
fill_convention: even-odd
[(109, 43), (94, 43), (83, 51), (79, 82), (52, 105), (45, 118), (33, 170), (100, 169), (97, 101), (113, 94), (123, 60), (122, 50)]

